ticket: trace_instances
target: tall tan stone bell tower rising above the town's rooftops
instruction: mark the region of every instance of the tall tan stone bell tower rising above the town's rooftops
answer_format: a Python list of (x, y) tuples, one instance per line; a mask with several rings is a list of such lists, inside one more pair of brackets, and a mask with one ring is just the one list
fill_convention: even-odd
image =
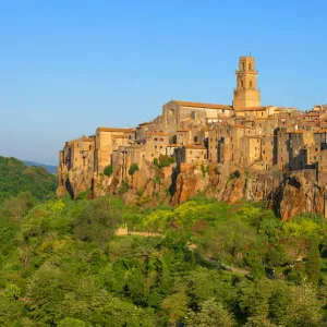
[(235, 111), (261, 106), (261, 90), (256, 86), (258, 72), (255, 70), (254, 57), (240, 57), (234, 88), (233, 108)]

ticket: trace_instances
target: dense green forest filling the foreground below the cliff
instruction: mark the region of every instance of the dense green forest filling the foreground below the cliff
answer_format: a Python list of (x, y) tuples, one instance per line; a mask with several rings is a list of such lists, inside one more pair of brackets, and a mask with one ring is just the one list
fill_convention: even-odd
[(203, 194), (178, 207), (72, 201), (46, 173), (43, 196), (14, 175), (3, 192), (4, 175), (0, 326), (327, 326), (320, 215), (281, 222)]

